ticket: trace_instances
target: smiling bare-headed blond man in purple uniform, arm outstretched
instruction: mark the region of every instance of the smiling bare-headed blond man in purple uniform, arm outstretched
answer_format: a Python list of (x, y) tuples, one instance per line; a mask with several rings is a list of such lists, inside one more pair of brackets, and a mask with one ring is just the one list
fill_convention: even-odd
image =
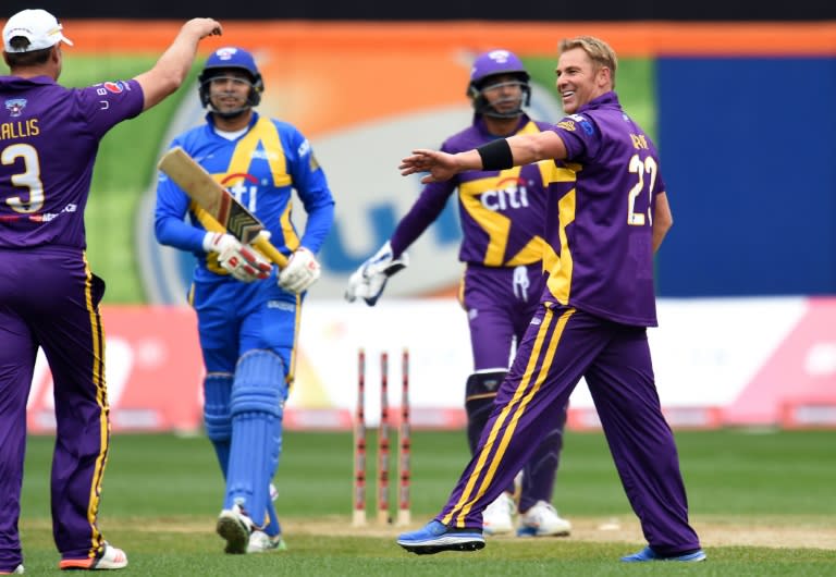
[(415, 150), (401, 165), (404, 175), (429, 172), (422, 182), (432, 183), (552, 159), (557, 175), (549, 192), (549, 280), (540, 308), (443, 511), (397, 543), (415, 553), (482, 549), (481, 511), (585, 377), (649, 543), (622, 561), (703, 561), (647, 336), (656, 326), (653, 254), (673, 224), (659, 155), (613, 91), (612, 48), (581, 36), (563, 40), (560, 51), (557, 91), (569, 115), (552, 130), (456, 155)]

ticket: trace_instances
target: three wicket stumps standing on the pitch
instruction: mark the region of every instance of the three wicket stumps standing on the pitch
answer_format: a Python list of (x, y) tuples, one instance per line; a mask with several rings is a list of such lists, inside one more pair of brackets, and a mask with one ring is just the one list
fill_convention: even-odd
[[(366, 352), (360, 348), (357, 355), (357, 409), (354, 422), (354, 511), (353, 525), (366, 525)], [(409, 351), (404, 348), (402, 356), (401, 415), (397, 427), (397, 525), (408, 525), (410, 482), (410, 431), (409, 431)], [(376, 510), (379, 524), (391, 524), (390, 513), (390, 437), (392, 415), (389, 406), (389, 354), (380, 355), (380, 423), (378, 427)]]

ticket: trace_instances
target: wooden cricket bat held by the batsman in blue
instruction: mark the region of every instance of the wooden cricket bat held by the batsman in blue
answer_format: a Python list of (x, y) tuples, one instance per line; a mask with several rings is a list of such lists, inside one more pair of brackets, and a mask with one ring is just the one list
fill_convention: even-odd
[[(287, 257), (281, 254), (265, 235), (265, 225), (238, 202), (229, 191), (195, 162), (183, 148), (176, 146), (165, 152), (157, 168), (169, 175), (177, 186), (206, 210), (200, 222), (208, 231), (226, 231), (243, 244), (254, 247), (272, 260), (280, 269), (287, 266)], [(214, 222), (212, 222), (214, 221)]]

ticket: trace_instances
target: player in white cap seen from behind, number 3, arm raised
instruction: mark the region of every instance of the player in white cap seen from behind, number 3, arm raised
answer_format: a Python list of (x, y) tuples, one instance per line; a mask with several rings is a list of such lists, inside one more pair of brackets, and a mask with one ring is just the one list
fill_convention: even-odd
[(0, 574), (23, 573), (17, 519), (38, 347), (54, 384), (59, 566), (127, 565), (97, 521), (110, 433), (99, 316), (104, 282), (85, 256), (84, 209), (102, 136), (176, 90), (199, 40), (220, 33), (214, 20), (190, 20), (149, 71), (71, 89), (57, 84), (61, 44), (72, 42), (52, 14), (24, 10), (3, 27), (11, 75), (0, 76)]

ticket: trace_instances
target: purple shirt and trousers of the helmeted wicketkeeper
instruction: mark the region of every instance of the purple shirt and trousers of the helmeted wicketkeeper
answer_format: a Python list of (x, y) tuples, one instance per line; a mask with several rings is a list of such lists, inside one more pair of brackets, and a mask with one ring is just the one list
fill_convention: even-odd
[[(515, 134), (551, 127), (522, 114)], [(442, 150), (460, 152), (497, 138), (477, 114), (470, 126), (444, 142)], [(450, 181), (430, 183), (392, 235), (392, 249), (399, 256), (438, 218), (453, 191), (458, 191), (463, 232), (458, 258), (467, 263), (459, 298), (467, 311), (475, 376), (507, 370), (514, 347), (538, 308), (545, 283), (546, 195), (556, 170), (546, 160), (502, 171), (467, 171)], [(466, 405), (469, 398), (480, 397), (490, 400), (491, 391), (477, 386), (465, 392)], [(552, 501), (564, 421), (565, 405), (531, 442), (532, 458), (520, 464), (525, 469), (520, 511), (538, 501)], [(471, 434), (468, 431), (475, 442)], [(513, 491), (513, 479), (506, 481), (505, 488)]]

